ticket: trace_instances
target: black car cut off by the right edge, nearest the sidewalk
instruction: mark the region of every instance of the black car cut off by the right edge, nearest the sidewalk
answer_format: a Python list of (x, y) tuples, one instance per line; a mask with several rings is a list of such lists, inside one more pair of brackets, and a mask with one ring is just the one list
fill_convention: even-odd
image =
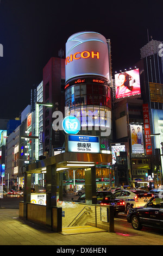
[(136, 230), (141, 230), (143, 226), (163, 228), (163, 200), (158, 195), (152, 197), (145, 206), (141, 208), (131, 208), (127, 213), (127, 221)]

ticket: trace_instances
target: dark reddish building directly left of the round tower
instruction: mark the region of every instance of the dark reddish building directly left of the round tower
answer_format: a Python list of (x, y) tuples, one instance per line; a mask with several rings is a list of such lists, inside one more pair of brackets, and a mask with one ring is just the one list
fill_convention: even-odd
[(64, 135), (53, 129), (53, 112), (65, 112), (65, 59), (49, 59), (43, 68), (43, 102), (52, 103), (53, 107), (43, 107), (43, 155), (54, 156), (54, 151), (62, 149)]

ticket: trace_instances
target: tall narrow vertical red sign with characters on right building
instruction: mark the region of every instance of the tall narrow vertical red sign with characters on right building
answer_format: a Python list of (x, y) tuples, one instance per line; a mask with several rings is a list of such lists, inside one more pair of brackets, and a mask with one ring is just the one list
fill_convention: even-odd
[(151, 129), (149, 124), (149, 108), (148, 104), (143, 104), (143, 120), (145, 128), (146, 154), (152, 155)]

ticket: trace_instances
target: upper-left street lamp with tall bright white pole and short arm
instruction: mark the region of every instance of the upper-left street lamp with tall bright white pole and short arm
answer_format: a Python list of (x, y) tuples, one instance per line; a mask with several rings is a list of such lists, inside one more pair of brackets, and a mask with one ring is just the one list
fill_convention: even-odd
[(35, 158), (39, 160), (39, 106), (53, 107), (52, 104), (36, 102), (36, 112), (35, 112)]

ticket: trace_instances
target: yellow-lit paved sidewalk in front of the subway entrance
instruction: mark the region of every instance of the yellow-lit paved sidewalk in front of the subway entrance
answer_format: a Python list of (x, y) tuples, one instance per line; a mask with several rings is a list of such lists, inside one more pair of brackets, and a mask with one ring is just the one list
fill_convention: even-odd
[(124, 227), (116, 225), (114, 233), (101, 231), (62, 235), (21, 220), (18, 217), (18, 209), (1, 208), (0, 245), (55, 245), (57, 248), (70, 248), (71, 245), (163, 245), (163, 232), (152, 234), (134, 229), (125, 230)]

